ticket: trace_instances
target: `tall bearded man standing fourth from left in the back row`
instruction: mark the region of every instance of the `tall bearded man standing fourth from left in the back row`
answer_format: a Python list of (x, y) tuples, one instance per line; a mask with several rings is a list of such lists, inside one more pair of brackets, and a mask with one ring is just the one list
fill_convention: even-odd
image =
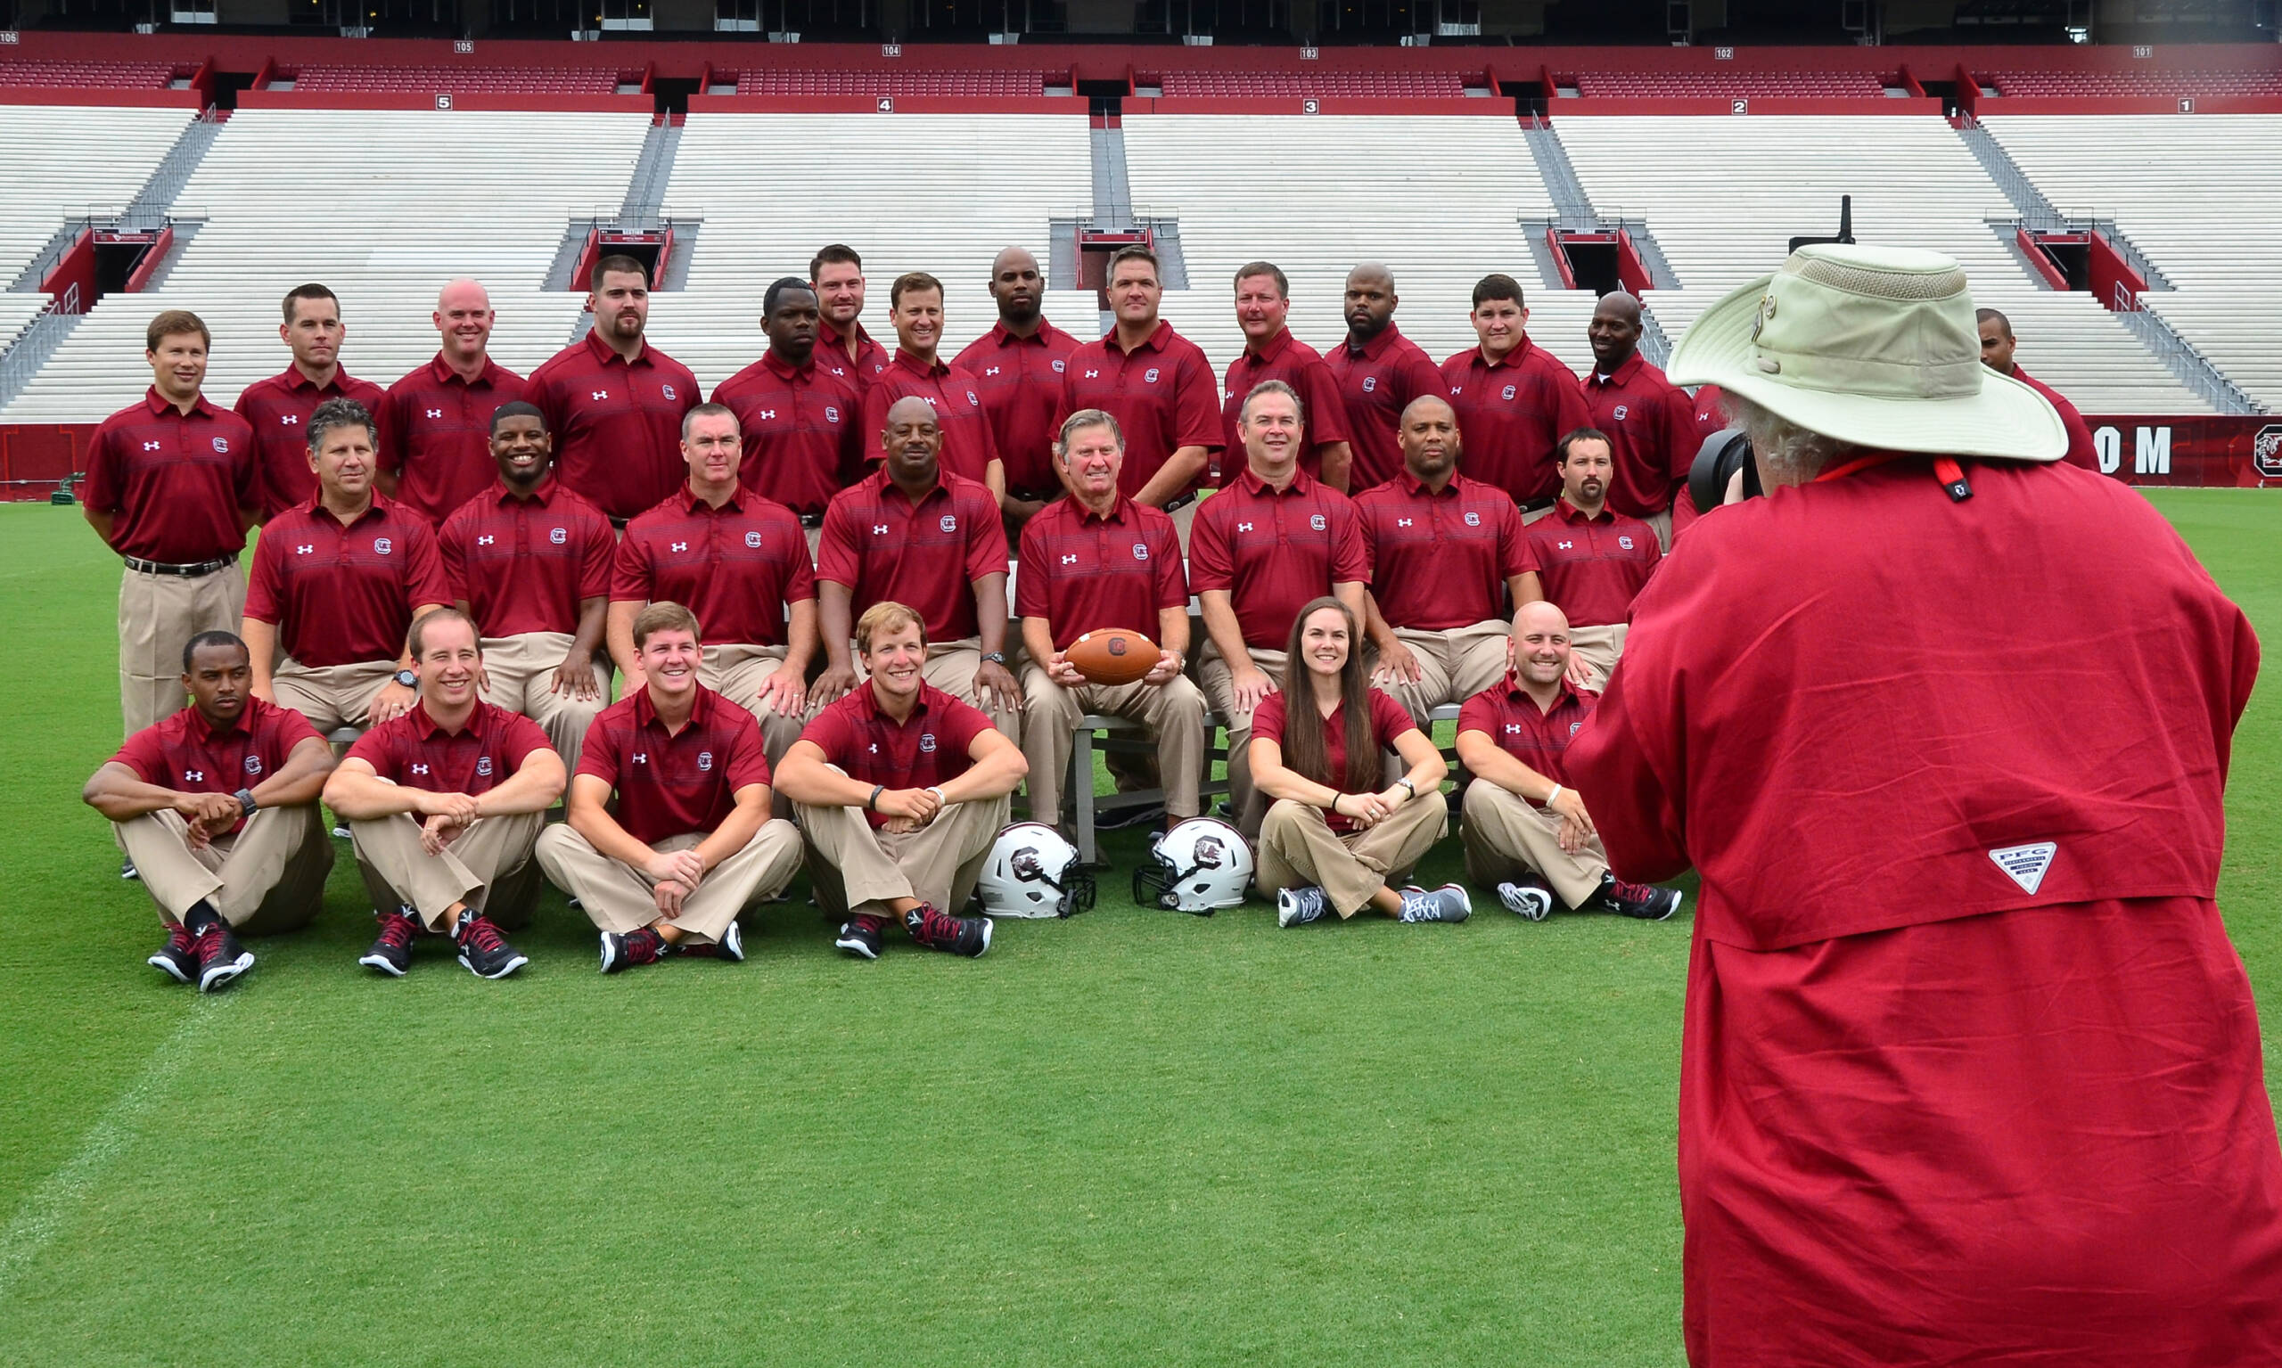
[(650, 274), (634, 258), (593, 264), (586, 308), (593, 331), (534, 369), (525, 397), (555, 433), (555, 477), (625, 527), (680, 483), (682, 415), (698, 404), (698, 381), (644, 340)]

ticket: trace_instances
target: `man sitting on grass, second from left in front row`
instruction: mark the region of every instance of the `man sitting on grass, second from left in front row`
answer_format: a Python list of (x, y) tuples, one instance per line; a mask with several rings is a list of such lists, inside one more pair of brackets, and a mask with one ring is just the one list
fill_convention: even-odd
[(358, 964), (402, 978), (427, 930), (447, 933), (477, 978), (507, 978), (529, 960), (500, 919), (527, 921), (539, 889), (523, 880), (518, 907), (495, 905), (495, 894), (532, 862), (564, 762), (539, 723), (477, 695), (484, 654), (468, 613), (436, 609), (413, 622), (411, 657), (413, 711), (358, 736), (324, 787), (381, 923)]

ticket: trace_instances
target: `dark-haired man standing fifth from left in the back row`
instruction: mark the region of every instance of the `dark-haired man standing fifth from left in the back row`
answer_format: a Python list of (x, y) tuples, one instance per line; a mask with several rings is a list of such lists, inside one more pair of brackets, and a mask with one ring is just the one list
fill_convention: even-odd
[(817, 552), (824, 508), (863, 467), (863, 399), (847, 358), (817, 349), (822, 315), (815, 285), (785, 276), (760, 303), (769, 351), (714, 385), (714, 404), (737, 415), (744, 465), (737, 479), (792, 508)]

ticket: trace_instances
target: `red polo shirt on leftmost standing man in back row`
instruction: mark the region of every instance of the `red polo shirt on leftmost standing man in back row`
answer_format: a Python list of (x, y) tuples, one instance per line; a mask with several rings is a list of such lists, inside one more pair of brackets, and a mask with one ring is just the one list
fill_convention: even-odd
[(112, 515), (121, 556), (169, 565), (237, 556), (246, 549), (237, 511), (262, 506), (253, 431), (203, 394), (185, 415), (153, 388), (96, 429), (80, 497)]

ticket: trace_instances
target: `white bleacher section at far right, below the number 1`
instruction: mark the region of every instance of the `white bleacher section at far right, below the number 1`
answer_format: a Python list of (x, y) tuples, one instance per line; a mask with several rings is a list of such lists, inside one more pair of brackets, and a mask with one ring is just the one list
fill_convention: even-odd
[[(2001, 100), (1999, 100), (2001, 105)], [(2159, 312), (2204, 360), (2282, 410), (2282, 116), (1983, 119), (2056, 210), (2113, 219), (2170, 292)]]

